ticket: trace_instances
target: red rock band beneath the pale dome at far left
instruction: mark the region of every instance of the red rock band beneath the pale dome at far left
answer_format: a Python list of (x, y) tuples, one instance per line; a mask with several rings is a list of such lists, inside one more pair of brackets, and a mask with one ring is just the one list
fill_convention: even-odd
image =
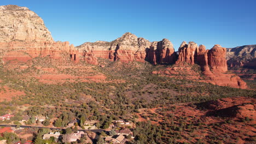
[[(73, 45), (69, 46), (66, 42), (27, 42), (12, 41), (10, 43), (0, 43), (2, 50), (3, 62), (17, 61), (27, 62), (35, 57), (50, 56), (53, 59), (62, 59), (71, 56), (75, 62), (79, 61), (79, 57), (75, 58), (78, 51)], [(72, 57), (73, 56), (73, 57)]]

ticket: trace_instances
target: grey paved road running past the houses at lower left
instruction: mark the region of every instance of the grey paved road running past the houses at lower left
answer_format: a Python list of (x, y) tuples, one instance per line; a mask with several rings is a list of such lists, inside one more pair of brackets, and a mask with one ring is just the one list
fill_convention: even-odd
[[(0, 127), (16, 127), (15, 124), (0, 124)], [(64, 130), (65, 128), (51, 128), (51, 127), (38, 127), (38, 126), (31, 126), (31, 125), (20, 125), (20, 128), (49, 128), (51, 130)], [(104, 131), (103, 129), (79, 129), (78, 131), (92, 131), (94, 133), (101, 133)]]

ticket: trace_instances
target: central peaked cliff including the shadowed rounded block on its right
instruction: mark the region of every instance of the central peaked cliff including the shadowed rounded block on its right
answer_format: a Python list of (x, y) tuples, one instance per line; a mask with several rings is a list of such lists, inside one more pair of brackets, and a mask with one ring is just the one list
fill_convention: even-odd
[(77, 49), (82, 55), (92, 53), (95, 57), (126, 63), (132, 61), (149, 61), (154, 64), (174, 63), (176, 59), (171, 41), (163, 39), (162, 41), (150, 42), (131, 33), (125, 33), (122, 37), (111, 42), (84, 43), (77, 46)]

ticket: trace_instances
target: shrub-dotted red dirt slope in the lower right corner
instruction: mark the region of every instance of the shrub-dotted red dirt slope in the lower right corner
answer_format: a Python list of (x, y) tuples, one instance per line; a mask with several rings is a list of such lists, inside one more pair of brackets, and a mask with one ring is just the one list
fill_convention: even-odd
[[(208, 137), (212, 136), (219, 137), (217, 139), (224, 141), (224, 143), (246, 143), (250, 141), (250, 137), (255, 136), (256, 128), (254, 128), (255, 122), (253, 120), (256, 116), (253, 108), (255, 98), (223, 98), (215, 102), (212, 105), (204, 103), (203, 107), (181, 103), (159, 106), (157, 109), (139, 109), (137, 121), (150, 121), (152, 124), (164, 123), (167, 125), (165, 128), (167, 131), (178, 131), (177, 133), (182, 135), (183, 139), (177, 140), (181, 143), (196, 143), (198, 139), (207, 141)], [(235, 111), (237, 115), (234, 117), (207, 115), (209, 111), (222, 110), (234, 106), (240, 108)], [(252, 116), (249, 118), (253, 119), (247, 122), (241, 121), (240, 115), (242, 117)], [(185, 125), (185, 127), (182, 125)], [(177, 128), (182, 128), (182, 130), (179, 131)], [(229, 139), (223, 140), (220, 138), (225, 136), (228, 136)]]

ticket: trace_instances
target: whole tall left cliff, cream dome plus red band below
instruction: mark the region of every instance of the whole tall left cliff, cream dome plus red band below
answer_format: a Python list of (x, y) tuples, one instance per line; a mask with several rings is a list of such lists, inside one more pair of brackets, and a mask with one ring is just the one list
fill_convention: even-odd
[(70, 56), (79, 61), (74, 46), (55, 42), (43, 20), (28, 8), (0, 6), (0, 16), (0, 58), (4, 63), (15, 59), (26, 62), (38, 56), (55, 59)]

